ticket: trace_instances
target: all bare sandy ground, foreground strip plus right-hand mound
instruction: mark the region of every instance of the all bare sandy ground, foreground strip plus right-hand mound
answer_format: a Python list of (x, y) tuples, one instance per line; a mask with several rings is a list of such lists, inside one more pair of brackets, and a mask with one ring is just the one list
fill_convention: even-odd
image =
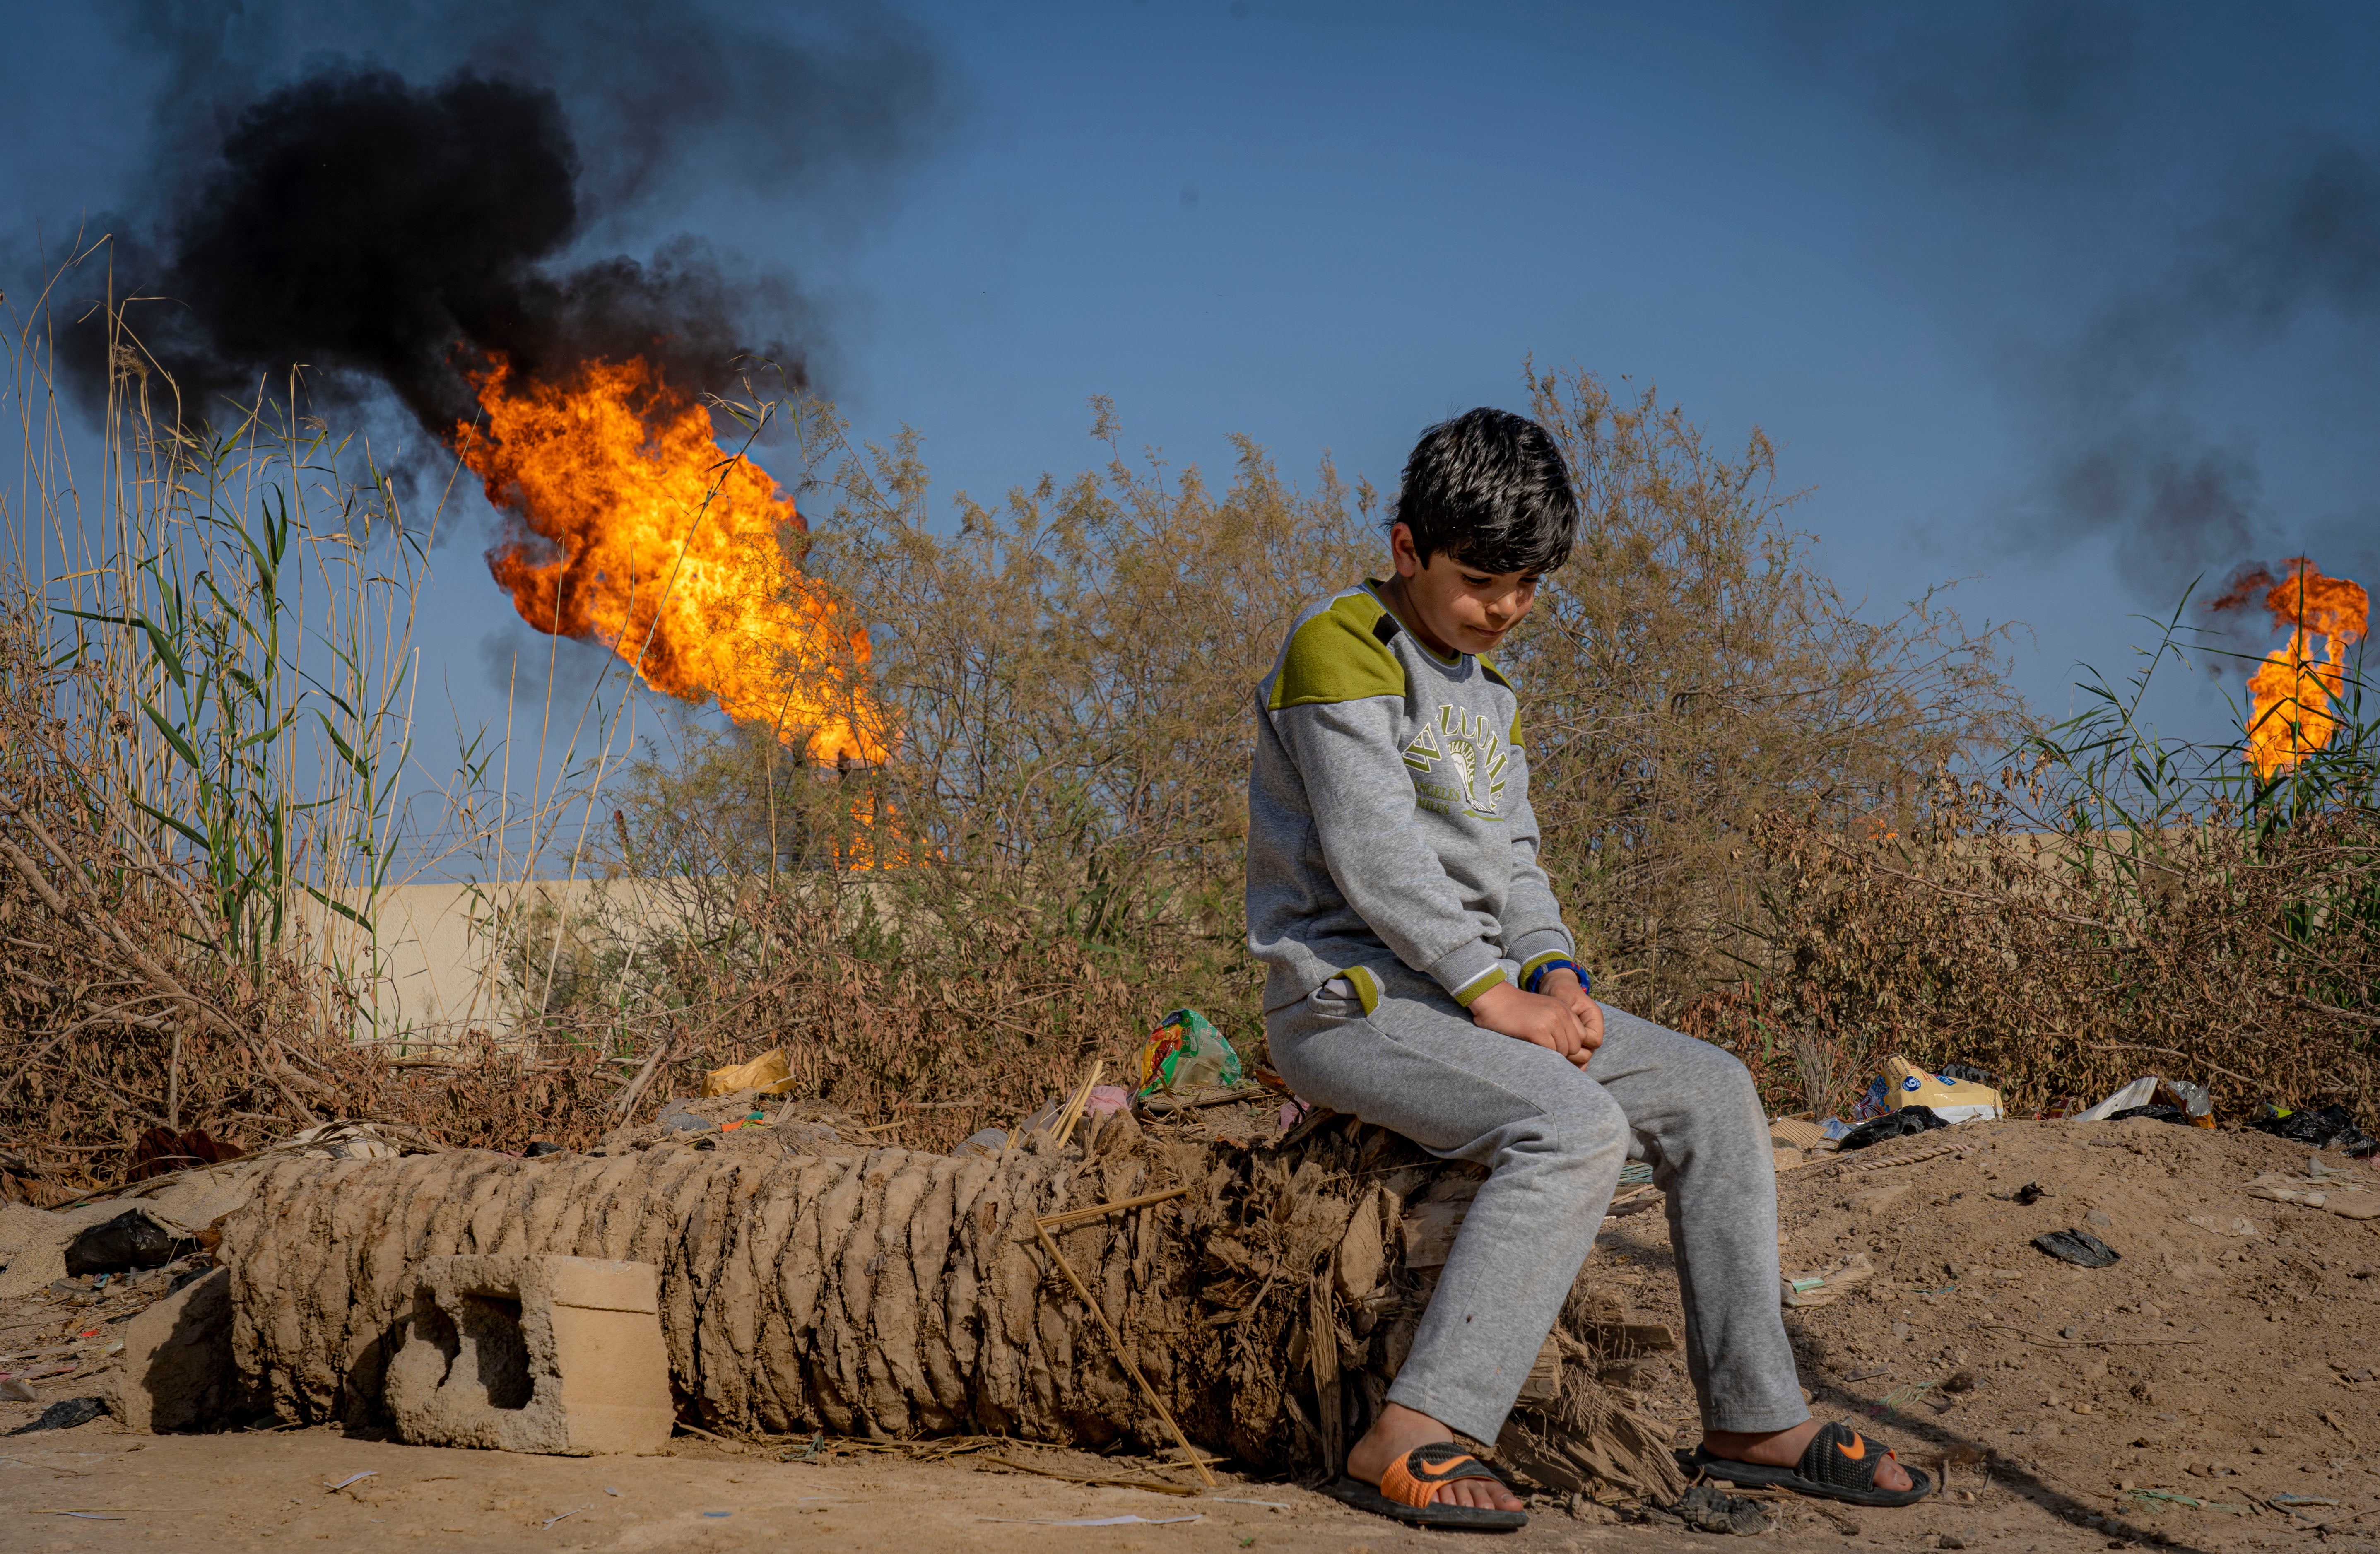
[[(1944, 1140), (1964, 1152), (1894, 1161), (1894, 1149)], [(2266, 1171), (2304, 1176), (2311, 1154), (2263, 1135), (2152, 1121), (1990, 1123), (1787, 1171), (1785, 1268), (1825, 1268), (1854, 1252), (1875, 1266), (1873, 1280), (1835, 1304), (1787, 1311), (1814, 1406), (1856, 1421), (1944, 1483), (1909, 1511), (1768, 1502), (1771, 1542), (2380, 1554), (2380, 1218), (2242, 1190)], [(2337, 1154), (2323, 1159), (2349, 1168)], [(2370, 1180), (2380, 1190), (2380, 1173)], [(2028, 1183), (2047, 1192), (2016, 1202)], [(2035, 1235), (2059, 1228), (2097, 1233), (2123, 1261), (2085, 1271), (2033, 1249)], [(1606, 1226), (1592, 1268), (1642, 1318), (1676, 1323), (1661, 1214)], [(98, 1311), (74, 1321), (98, 1321)], [(1692, 1440), (1678, 1356), (1637, 1361), (1614, 1380)], [(74, 1397), (79, 1383), (40, 1390)], [(33, 1414), (33, 1404), (0, 1404), (0, 1428)], [(0, 1547), (1385, 1554), (1461, 1537), (1402, 1530), (1295, 1485), (1245, 1478), (1173, 1497), (1007, 1473), (983, 1454), (909, 1461), (859, 1449), (788, 1464), (785, 1452), (785, 1442), (728, 1449), (681, 1437), (671, 1456), (543, 1459), (336, 1430), (136, 1437), (102, 1418), (0, 1440)], [(1152, 1468), (1004, 1452), (1071, 1473)], [(371, 1478), (328, 1487), (355, 1473)], [(1533, 1525), (1499, 1547), (1671, 1549), (1714, 1537), (1621, 1525), (1583, 1502), (1533, 1509)], [(1035, 1525), (1109, 1516), (1145, 1521)], [(1171, 1516), (1195, 1521), (1152, 1525)]]

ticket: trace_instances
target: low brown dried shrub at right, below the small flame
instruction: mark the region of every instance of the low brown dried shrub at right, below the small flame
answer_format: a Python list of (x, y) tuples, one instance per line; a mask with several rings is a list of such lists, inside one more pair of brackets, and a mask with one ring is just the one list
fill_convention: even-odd
[(2370, 1123), (2380, 740), (2361, 683), (2332, 745), (2273, 781), (2237, 742), (2140, 728), (2140, 690), (2037, 735), (1997, 783), (1937, 778), (1909, 833), (1764, 816), (1768, 964), (1690, 1026), (1780, 1109), (1799, 1042), (1854, 1076), (1892, 1054), (1978, 1064), (2025, 1111), (2168, 1073), (2232, 1121), (2340, 1099)]

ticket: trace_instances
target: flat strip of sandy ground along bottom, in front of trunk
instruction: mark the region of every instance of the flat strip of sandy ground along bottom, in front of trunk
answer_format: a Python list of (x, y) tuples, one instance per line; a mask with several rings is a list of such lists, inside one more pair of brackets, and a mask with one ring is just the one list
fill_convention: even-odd
[[(1000, 1473), (969, 1459), (909, 1464), (890, 1456), (781, 1464), (709, 1442), (676, 1456), (509, 1456), (345, 1440), (336, 1430), (148, 1435), (93, 1423), (0, 1442), (0, 1547), (67, 1549), (1152, 1549), (1221, 1554), (1283, 1549), (1388, 1554), (1476, 1540), (1416, 1533), (1349, 1511), (1292, 1485), (1226, 1478), (1214, 1495), (1078, 1487)], [(1083, 1471), (1097, 1459), (1014, 1449)], [(1109, 1471), (1116, 1464), (1102, 1464)], [(1140, 1471), (1140, 1468), (1128, 1468)], [(352, 1473), (374, 1473), (331, 1490)], [(2006, 1554), (2102, 1547), (2063, 1516), (2056, 1495), (1954, 1468), (1952, 1492), (1909, 1511), (1852, 1511), (1859, 1535), (1804, 1504), (1783, 1502), (1764, 1544), (1964, 1547)], [(616, 1490), (616, 1495), (614, 1495)], [(1254, 1504), (1252, 1504), (1254, 1502)], [(79, 1511), (81, 1516), (67, 1516)], [(1618, 1525), (1537, 1506), (1502, 1549), (1687, 1549), (1716, 1540), (1659, 1525)], [(117, 1521), (98, 1521), (112, 1516)], [(559, 1521), (547, 1521), (557, 1518)], [(1140, 1516), (1126, 1525), (1033, 1525)], [(1161, 1518), (1195, 1518), (1166, 1525)], [(2332, 1544), (2337, 1547), (2337, 1544)]]

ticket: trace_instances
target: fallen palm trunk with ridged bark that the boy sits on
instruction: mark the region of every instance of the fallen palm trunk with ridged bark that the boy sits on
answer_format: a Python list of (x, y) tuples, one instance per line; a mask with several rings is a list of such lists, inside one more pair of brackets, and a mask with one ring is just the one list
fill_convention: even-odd
[[(1407, 1204), (1454, 1204), (1476, 1178), (1352, 1118), (1266, 1149), (1173, 1142), (1130, 1118), (1007, 1157), (826, 1140), (812, 1121), (635, 1130), (585, 1157), (271, 1166), (224, 1228), (238, 1366), (286, 1421), (376, 1423), (414, 1261), (612, 1257), (662, 1271), (671, 1378), (709, 1430), (1161, 1447), (1164, 1423), (1035, 1218), (1185, 1188), (1052, 1235), (1195, 1442), (1335, 1468), (1435, 1283), (1430, 1257), (1409, 1257)], [(1573, 1292), (1514, 1449), (1535, 1475), (1576, 1480), (1561, 1487), (1673, 1490), (1668, 1433), (1597, 1383), (1637, 1342), (1618, 1314)]]

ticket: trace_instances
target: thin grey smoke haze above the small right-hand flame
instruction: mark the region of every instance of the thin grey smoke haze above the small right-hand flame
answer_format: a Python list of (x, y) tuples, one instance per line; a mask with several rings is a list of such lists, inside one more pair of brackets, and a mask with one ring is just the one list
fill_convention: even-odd
[[(2242, 14), (2237, 26), (2278, 24)], [(2085, 228), (2137, 209), (2142, 188), (2192, 190), (2194, 217), (2123, 231), (2156, 257), (2075, 331), (2006, 357), (2033, 469), (2002, 538), (2042, 552), (2104, 543), (2156, 612), (2194, 578), (2204, 602), (2256, 557), (2380, 569), (2368, 512), (2275, 514), (2259, 450), (2190, 409), (2197, 390), (2251, 369), (2294, 328), (2359, 331), (2380, 317), (2380, 152), (2263, 114), (2204, 136), (2221, 150), (2185, 159), (2180, 129), (2206, 109), (2180, 31), (2175, 12), (2123, 0), (2025, 0), (1811, 14), (1785, 38), (2009, 226), (2059, 212)], [(2242, 631), (2237, 612), (2192, 621)]]

